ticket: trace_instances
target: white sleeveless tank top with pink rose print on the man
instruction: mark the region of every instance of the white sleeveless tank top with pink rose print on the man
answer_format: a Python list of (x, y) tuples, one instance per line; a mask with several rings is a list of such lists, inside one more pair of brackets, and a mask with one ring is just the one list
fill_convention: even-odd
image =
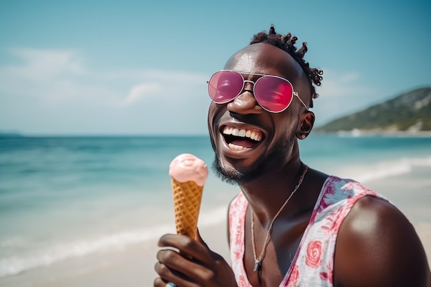
[[(280, 287), (333, 286), (333, 259), (339, 227), (357, 200), (366, 195), (383, 198), (353, 180), (335, 176), (326, 179)], [(229, 207), (231, 265), (240, 287), (252, 287), (243, 263), (247, 206), (244, 195), (240, 193)]]

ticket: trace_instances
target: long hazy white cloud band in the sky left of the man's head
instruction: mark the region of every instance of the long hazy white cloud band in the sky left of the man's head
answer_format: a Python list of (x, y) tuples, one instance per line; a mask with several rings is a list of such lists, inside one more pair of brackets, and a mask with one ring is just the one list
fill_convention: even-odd
[(143, 96), (175, 98), (178, 91), (204, 83), (203, 76), (185, 72), (93, 71), (72, 50), (14, 49), (11, 53), (22, 63), (0, 67), (0, 92), (48, 104), (82, 100), (123, 107)]

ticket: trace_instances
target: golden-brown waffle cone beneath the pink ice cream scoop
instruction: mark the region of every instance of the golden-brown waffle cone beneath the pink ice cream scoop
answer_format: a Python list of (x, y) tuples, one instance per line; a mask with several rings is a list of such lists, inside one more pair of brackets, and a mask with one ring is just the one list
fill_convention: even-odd
[(200, 201), (204, 187), (193, 181), (178, 182), (175, 178), (171, 180), (176, 232), (197, 239)]

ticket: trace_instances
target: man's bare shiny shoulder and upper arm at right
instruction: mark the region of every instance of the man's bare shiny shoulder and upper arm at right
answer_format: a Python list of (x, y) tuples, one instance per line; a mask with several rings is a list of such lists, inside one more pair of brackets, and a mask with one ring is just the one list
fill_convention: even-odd
[(430, 268), (414, 227), (380, 198), (358, 200), (339, 229), (335, 286), (426, 286)]

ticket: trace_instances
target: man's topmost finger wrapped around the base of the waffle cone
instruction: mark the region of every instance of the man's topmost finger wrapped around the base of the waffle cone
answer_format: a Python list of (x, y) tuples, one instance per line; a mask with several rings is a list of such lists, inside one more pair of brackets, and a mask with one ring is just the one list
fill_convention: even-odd
[(186, 235), (167, 234), (160, 237), (158, 246), (177, 248), (181, 254), (188, 255), (200, 262), (211, 262), (212, 259), (211, 251), (202, 238), (198, 242)]

